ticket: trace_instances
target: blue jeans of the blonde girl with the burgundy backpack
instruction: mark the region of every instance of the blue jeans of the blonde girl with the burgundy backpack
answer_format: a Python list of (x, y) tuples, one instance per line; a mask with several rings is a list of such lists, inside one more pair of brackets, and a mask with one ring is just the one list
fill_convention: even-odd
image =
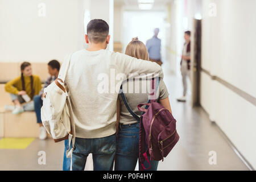
[[(119, 125), (117, 152), (115, 155), (115, 171), (134, 171), (139, 158), (139, 123)], [(150, 160), (150, 156), (148, 156)], [(143, 163), (148, 168), (148, 163)], [(150, 161), (151, 168), (144, 171), (156, 171), (158, 161)], [(141, 171), (141, 164), (139, 163)]]

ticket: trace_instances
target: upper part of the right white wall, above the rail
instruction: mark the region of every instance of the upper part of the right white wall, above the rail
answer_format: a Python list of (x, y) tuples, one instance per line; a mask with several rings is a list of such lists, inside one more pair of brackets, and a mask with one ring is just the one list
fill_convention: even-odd
[[(209, 2), (217, 5), (217, 16), (208, 16)], [(255, 52), (256, 40), (256, 1), (204, 1), (204, 28), (211, 31), (205, 34), (204, 44), (210, 44), (212, 59), (203, 61), (203, 67), (210, 67), (213, 75), (220, 76), (234, 86), (256, 97)], [(248, 13), (251, 12), (251, 13)], [(204, 31), (205, 32), (205, 31)], [(204, 46), (205, 47), (205, 46)], [(208, 54), (206, 54), (208, 55)], [(204, 56), (204, 55), (203, 55)], [(217, 61), (217, 63), (216, 63)], [(232, 69), (231, 69), (232, 68)]]

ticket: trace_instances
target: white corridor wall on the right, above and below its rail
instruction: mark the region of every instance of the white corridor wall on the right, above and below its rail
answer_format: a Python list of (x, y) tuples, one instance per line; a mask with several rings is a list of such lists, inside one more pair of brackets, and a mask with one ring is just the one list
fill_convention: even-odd
[[(210, 3), (216, 5), (216, 16), (209, 16)], [(255, 7), (254, 0), (204, 0), (201, 55), (202, 68), (253, 97), (256, 97)], [(205, 73), (201, 73), (200, 102), (256, 168), (256, 106)]]

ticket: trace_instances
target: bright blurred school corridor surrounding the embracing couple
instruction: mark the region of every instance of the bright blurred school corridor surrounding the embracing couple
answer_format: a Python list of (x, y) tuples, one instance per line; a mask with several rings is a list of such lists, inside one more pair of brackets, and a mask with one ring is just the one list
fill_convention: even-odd
[[(138, 37), (149, 59), (163, 63), (180, 139), (159, 171), (254, 171), (255, 7), (254, 0), (0, 0), (0, 171), (63, 169), (64, 141), (39, 139), (34, 110), (13, 114), (6, 83), (28, 61), (43, 88), (56, 75), (49, 61), (61, 64), (68, 53), (88, 48), (92, 19), (109, 24), (109, 51), (125, 53)], [(159, 53), (150, 53), (153, 38)], [(93, 170), (91, 154), (85, 170)]]

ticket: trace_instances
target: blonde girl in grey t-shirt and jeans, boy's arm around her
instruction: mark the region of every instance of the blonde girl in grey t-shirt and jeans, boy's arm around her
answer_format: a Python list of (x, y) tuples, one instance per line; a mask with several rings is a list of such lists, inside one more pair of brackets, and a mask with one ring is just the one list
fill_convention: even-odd
[[(138, 40), (138, 38), (133, 38), (133, 40), (128, 44), (125, 51), (126, 55), (136, 57), (137, 59), (143, 59), (148, 60), (148, 52), (146, 46)], [(133, 84), (130, 84), (129, 82), (133, 82)], [(127, 103), (129, 104), (131, 110), (134, 111), (135, 114), (138, 116), (141, 115), (141, 111), (138, 110), (137, 105), (141, 103), (147, 103), (148, 96), (150, 95), (150, 90), (147, 90), (148, 85), (150, 85), (151, 79), (143, 79), (143, 80), (127, 80), (123, 82), (122, 89), (123, 93), (125, 94), (125, 97), (127, 99)], [(131, 89), (133, 91), (130, 93), (129, 86), (135, 85), (139, 88)], [(146, 92), (143, 92), (143, 86), (147, 86), (145, 90)], [(127, 90), (127, 93), (125, 92)], [(128, 92), (129, 90), (129, 92)], [(139, 93), (135, 90), (139, 90)], [(159, 94), (158, 94), (159, 93)], [(159, 81), (159, 88), (156, 92), (156, 98), (158, 98), (158, 101), (160, 104), (162, 104), (166, 109), (171, 111), (170, 102), (168, 99), (168, 90), (166, 88), (166, 85), (163, 82), (163, 79), (161, 78)], [(117, 107), (117, 110), (120, 110), (120, 115), (117, 116), (119, 118), (119, 130), (117, 134), (117, 152), (115, 155), (115, 170), (116, 171), (134, 171), (137, 160), (139, 158), (139, 123), (136, 119), (134, 119), (133, 115), (129, 113), (127, 110), (122, 97), (118, 96), (118, 101), (120, 102), (117, 104), (120, 107)], [(150, 157), (148, 157), (150, 159)], [(156, 170), (158, 167), (158, 161), (150, 161), (151, 168), (149, 170)], [(144, 163), (144, 166), (147, 168), (148, 164), (147, 162)], [(141, 165), (139, 164), (139, 167)]]

